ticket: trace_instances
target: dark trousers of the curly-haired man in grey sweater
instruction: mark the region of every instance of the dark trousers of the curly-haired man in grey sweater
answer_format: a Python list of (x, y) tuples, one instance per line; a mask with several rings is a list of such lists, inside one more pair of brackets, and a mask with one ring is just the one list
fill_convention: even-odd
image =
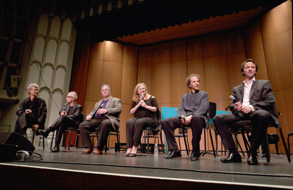
[[(189, 125), (192, 131), (192, 148), (200, 149), (200, 138), (202, 134), (202, 126), (204, 126), (205, 117), (200, 114), (194, 114)], [(170, 150), (178, 149), (176, 139), (174, 136), (174, 130), (182, 125), (181, 119), (178, 117), (169, 117), (162, 121), (162, 127), (167, 138), (168, 146)]]

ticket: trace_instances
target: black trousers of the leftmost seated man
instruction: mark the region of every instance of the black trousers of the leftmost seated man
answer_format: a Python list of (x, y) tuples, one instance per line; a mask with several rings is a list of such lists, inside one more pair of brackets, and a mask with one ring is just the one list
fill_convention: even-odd
[[(32, 128), (33, 125), (38, 124), (37, 121), (35, 121), (35, 119), (33, 119), (32, 117), (30, 117), (30, 115), (27, 115), (26, 113), (22, 113), (21, 115), (19, 115), (15, 127), (14, 127), (14, 131), (16, 133), (19, 133), (21, 135), (26, 135), (26, 130), (28, 128)], [(38, 129), (44, 129), (44, 125), (39, 125)], [(38, 133), (38, 130), (35, 133), (36, 135), (40, 135)]]

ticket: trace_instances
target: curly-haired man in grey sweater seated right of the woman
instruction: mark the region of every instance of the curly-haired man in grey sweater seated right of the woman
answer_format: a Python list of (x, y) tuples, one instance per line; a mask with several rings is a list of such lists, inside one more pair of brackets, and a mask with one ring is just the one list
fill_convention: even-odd
[[(191, 92), (182, 96), (177, 117), (169, 117), (162, 121), (162, 127), (171, 150), (171, 153), (164, 158), (181, 157), (174, 130), (183, 124), (191, 127), (192, 153), (190, 159), (196, 161), (199, 159), (202, 127), (205, 126), (209, 118), (209, 95), (207, 92), (199, 90), (200, 76), (197, 74), (189, 75), (186, 78), (186, 85), (191, 89)], [(184, 119), (181, 117), (182, 115), (185, 116)]]

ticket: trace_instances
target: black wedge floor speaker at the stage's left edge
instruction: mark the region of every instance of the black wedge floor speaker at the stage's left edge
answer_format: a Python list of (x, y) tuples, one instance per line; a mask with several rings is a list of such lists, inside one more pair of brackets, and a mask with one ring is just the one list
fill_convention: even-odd
[[(16, 152), (25, 150), (34, 152), (33, 144), (21, 134), (16, 132), (0, 132), (0, 161), (11, 162)], [(31, 155), (32, 153), (30, 153)]]

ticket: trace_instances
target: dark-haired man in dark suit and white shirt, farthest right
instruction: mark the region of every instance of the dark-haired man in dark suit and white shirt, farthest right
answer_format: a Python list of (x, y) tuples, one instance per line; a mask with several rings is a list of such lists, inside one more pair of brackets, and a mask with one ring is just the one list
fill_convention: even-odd
[(242, 120), (252, 122), (251, 148), (247, 159), (250, 165), (258, 164), (256, 151), (265, 138), (269, 119), (272, 118), (278, 124), (277, 118), (272, 115), (275, 103), (272, 85), (269, 80), (255, 79), (257, 70), (258, 65), (252, 59), (242, 63), (241, 73), (245, 80), (233, 88), (233, 96), (237, 102), (231, 101), (229, 107), (232, 113), (219, 114), (213, 119), (225, 149), (229, 149), (228, 157), (221, 159), (221, 162), (242, 162), (229, 130), (233, 123)]

